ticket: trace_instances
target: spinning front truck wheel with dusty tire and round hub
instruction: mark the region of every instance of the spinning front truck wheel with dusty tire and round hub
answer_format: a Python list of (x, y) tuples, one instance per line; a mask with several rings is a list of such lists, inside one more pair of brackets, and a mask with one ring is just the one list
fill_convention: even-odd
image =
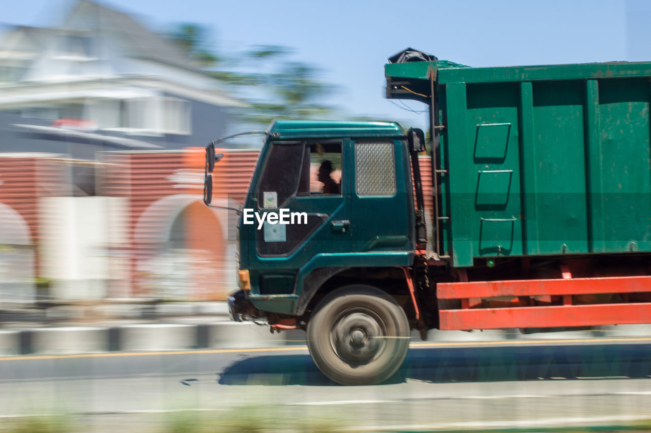
[(316, 366), (335, 382), (380, 384), (407, 355), (409, 322), (385, 292), (348, 285), (319, 302), (307, 323), (307, 347)]

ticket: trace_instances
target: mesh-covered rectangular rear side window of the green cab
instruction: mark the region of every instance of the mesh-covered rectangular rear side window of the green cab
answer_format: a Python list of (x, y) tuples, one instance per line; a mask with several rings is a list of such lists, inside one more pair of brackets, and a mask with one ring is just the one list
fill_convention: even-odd
[(396, 193), (393, 142), (355, 143), (355, 188), (359, 196), (393, 196)]

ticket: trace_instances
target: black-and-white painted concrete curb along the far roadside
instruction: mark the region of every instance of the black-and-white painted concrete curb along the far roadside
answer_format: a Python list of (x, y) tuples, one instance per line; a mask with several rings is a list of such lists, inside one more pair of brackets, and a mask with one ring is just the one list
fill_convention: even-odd
[[(421, 341), (413, 332), (412, 341)], [(545, 341), (549, 339), (651, 337), (651, 325), (601, 326), (594, 330), (521, 334), (518, 330), (428, 332), (430, 342)], [(87, 354), (304, 345), (305, 332), (271, 334), (267, 326), (229, 321), (193, 324), (123, 324), (0, 330), (0, 356)]]

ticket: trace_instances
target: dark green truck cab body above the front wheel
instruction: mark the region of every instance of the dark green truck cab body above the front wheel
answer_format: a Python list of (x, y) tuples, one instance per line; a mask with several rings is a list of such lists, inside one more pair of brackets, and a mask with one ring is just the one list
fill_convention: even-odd
[[(318, 180), (326, 161), (339, 191), (324, 192)], [(331, 274), (411, 265), (412, 197), (409, 155), (397, 124), (274, 122), (244, 205), (247, 217), (257, 214), (255, 224), (244, 214), (238, 222), (249, 299), (264, 311), (301, 315), (311, 292)], [(281, 209), (288, 209), (289, 224), (270, 220)], [(292, 223), (294, 213), (307, 218)]]

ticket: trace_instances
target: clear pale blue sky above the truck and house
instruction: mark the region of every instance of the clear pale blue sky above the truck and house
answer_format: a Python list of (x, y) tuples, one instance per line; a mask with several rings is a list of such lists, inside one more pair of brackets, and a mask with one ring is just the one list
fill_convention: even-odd
[[(73, 0), (1, 0), (0, 22), (53, 25)], [(469, 66), (651, 60), (651, 2), (101, 0), (148, 27), (201, 23), (220, 51), (293, 47), (346, 112), (425, 124), (383, 98), (383, 64), (411, 46)], [(410, 102), (416, 110), (422, 105)]]

